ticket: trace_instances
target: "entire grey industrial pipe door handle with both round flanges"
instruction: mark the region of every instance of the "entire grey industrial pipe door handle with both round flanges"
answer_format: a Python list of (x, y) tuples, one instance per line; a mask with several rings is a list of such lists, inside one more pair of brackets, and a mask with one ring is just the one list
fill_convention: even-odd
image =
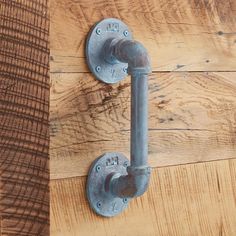
[(100, 21), (90, 31), (86, 59), (91, 72), (105, 83), (131, 75), (131, 164), (120, 153), (105, 153), (93, 162), (87, 179), (90, 206), (97, 214), (111, 217), (148, 187), (147, 75), (151, 66), (143, 45), (132, 40), (122, 21), (113, 18)]

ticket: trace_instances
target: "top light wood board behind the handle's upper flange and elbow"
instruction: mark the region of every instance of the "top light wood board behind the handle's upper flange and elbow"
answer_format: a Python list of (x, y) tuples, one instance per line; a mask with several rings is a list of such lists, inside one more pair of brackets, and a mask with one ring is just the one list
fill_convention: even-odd
[(87, 72), (84, 47), (94, 23), (123, 20), (148, 49), (154, 71), (235, 71), (232, 0), (51, 0), (51, 72)]

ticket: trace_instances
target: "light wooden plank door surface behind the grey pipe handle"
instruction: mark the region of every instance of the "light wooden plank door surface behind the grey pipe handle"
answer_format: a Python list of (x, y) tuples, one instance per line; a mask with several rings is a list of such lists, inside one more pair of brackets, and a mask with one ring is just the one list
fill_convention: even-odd
[[(53, 236), (236, 235), (236, 2), (51, 0)], [(151, 55), (148, 191), (114, 218), (89, 208), (85, 183), (107, 151), (129, 156), (130, 78), (94, 79), (90, 27), (123, 20)]]

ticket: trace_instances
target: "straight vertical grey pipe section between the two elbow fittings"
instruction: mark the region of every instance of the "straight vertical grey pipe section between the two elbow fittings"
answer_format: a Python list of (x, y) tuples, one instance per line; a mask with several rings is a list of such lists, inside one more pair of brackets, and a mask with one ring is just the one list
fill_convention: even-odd
[(131, 78), (131, 166), (146, 166), (148, 157), (148, 79)]

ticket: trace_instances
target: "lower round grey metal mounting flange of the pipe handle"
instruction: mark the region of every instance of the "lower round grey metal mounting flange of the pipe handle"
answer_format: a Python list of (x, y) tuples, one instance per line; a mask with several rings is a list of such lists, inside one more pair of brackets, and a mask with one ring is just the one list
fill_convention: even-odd
[(105, 153), (98, 157), (89, 170), (87, 197), (93, 210), (102, 216), (111, 217), (122, 212), (128, 205), (128, 198), (114, 197), (105, 191), (108, 175), (127, 175), (129, 160), (120, 153)]

